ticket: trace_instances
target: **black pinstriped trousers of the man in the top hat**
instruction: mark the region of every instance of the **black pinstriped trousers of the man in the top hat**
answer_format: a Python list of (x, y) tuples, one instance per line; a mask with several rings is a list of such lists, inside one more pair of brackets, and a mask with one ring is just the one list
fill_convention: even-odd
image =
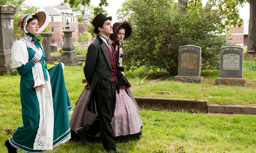
[(113, 128), (110, 124), (116, 108), (115, 87), (115, 82), (100, 78), (92, 93), (98, 116), (90, 124), (83, 127), (83, 131), (91, 136), (95, 136), (100, 132), (101, 141), (105, 149), (116, 147)]

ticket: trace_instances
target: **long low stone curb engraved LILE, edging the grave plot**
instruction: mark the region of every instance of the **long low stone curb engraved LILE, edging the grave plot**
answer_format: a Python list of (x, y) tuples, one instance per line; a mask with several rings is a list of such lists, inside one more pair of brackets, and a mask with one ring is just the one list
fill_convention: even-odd
[(139, 108), (151, 110), (169, 110), (201, 113), (239, 113), (256, 114), (256, 106), (243, 105), (208, 105), (208, 100), (134, 97)]

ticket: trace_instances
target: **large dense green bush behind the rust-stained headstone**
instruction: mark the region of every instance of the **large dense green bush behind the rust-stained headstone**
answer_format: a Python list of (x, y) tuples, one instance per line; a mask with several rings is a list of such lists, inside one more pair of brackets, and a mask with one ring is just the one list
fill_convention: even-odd
[[(225, 29), (220, 12), (211, 4), (188, 3), (185, 13), (174, 0), (128, 0), (123, 14), (132, 23), (132, 36), (124, 44), (124, 65), (136, 68), (178, 71), (178, 50), (183, 45), (202, 47), (202, 69), (219, 67), (220, 47), (225, 39), (216, 36)], [(182, 8), (184, 9), (184, 8)], [(119, 13), (122, 12), (119, 10)], [(124, 15), (124, 17), (126, 17)]]

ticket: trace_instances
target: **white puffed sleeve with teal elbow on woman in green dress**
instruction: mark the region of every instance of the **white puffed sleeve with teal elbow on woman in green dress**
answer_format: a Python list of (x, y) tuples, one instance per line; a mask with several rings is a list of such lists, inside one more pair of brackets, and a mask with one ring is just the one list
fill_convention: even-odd
[(33, 60), (28, 61), (28, 49), (25, 42), (16, 41), (12, 45), (12, 69), (18, 71), (20, 75), (26, 74), (35, 63)]

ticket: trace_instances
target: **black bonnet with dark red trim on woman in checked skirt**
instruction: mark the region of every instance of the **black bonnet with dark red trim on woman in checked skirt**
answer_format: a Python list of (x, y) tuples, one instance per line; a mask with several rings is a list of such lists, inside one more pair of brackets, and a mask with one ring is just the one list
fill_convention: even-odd
[(116, 36), (116, 33), (117, 31), (120, 29), (120, 28), (124, 28), (125, 29), (125, 35), (124, 35), (124, 39), (126, 39), (127, 37), (129, 37), (132, 33), (132, 26), (130, 23), (124, 21), (122, 23), (119, 23), (119, 22), (116, 22), (113, 24), (113, 34), (111, 34), (109, 36), (109, 38), (111, 40), (115, 40), (115, 36)]

